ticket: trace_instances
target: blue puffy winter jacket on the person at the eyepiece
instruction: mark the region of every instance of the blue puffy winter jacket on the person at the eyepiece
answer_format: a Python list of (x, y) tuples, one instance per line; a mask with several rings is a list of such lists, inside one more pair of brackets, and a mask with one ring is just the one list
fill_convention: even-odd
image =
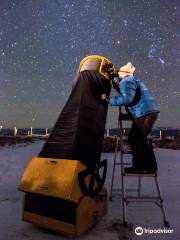
[[(137, 97), (137, 90), (139, 97)], [(134, 118), (142, 117), (151, 112), (159, 112), (149, 89), (143, 81), (134, 76), (126, 76), (119, 82), (119, 96), (110, 97), (111, 106), (126, 106)], [(135, 99), (136, 98), (136, 99)]]

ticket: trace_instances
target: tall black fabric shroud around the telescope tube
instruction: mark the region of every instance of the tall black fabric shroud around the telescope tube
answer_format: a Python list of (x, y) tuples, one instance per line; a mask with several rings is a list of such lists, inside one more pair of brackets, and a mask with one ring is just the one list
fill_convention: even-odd
[(110, 82), (98, 71), (83, 71), (74, 81), (70, 97), (63, 108), (39, 157), (75, 159), (86, 166), (100, 161)]

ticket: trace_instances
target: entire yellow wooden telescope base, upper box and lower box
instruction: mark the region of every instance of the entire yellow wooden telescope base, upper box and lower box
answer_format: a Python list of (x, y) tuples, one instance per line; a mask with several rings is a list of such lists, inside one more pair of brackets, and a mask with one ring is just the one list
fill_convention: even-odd
[(78, 160), (32, 158), (19, 184), (25, 192), (23, 220), (74, 236), (93, 227), (107, 212), (107, 191), (85, 196), (78, 180), (84, 169)]

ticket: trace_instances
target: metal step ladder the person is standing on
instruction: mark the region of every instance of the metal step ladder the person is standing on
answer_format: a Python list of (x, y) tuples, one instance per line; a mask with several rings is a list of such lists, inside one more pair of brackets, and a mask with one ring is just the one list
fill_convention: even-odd
[[(155, 203), (162, 211), (164, 225), (166, 227), (170, 227), (169, 222), (167, 220), (166, 211), (164, 207), (163, 198), (161, 195), (159, 183), (158, 183), (158, 175), (156, 174), (127, 174), (124, 172), (125, 165), (132, 165), (131, 163), (127, 163), (124, 161), (125, 154), (131, 154), (131, 151), (123, 150), (123, 121), (131, 121), (132, 118), (130, 115), (122, 112), (122, 107), (119, 107), (119, 118), (118, 118), (118, 128), (119, 128), (119, 136), (116, 138), (115, 144), (115, 152), (114, 152), (114, 162), (113, 162), (113, 172), (112, 172), (112, 179), (111, 179), (111, 189), (110, 189), (110, 196), (109, 200), (112, 201), (113, 192), (120, 192), (122, 196), (122, 209), (123, 209), (123, 225), (127, 226), (127, 205), (131, 202), (153, 202)], [(118, 147), (120, 147), (120, 160), (118, 161)], [(116, 166), (121, 167), (121, 188), (114, 188), (114, 178), (115, 178), (115, 171)], [(126, 189), (125, 185), (125, 178), (128, 177), (136, 177), (138, 179), (138, 186), (137, 189)], [(156, 197), (151, 196), (143, 196), (142, 195), (142, 178), (153, 178), (155, 181), (155, 187), (157, 191)], [(129, 196), (126, 195), (129, 192), (135, 191), (137, 196)]]

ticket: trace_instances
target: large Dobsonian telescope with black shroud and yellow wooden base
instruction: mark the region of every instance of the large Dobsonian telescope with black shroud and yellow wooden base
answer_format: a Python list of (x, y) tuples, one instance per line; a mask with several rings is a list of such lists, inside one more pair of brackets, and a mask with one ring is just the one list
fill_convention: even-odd
[(66, 105), (21, 178), (24, 221), (80, 235), (106, 214), (107, 161), (100, 156), (108, 103), (101, 96), (109, 96), (114, 73), (114, 65), (102, 56), (80, 62)]

